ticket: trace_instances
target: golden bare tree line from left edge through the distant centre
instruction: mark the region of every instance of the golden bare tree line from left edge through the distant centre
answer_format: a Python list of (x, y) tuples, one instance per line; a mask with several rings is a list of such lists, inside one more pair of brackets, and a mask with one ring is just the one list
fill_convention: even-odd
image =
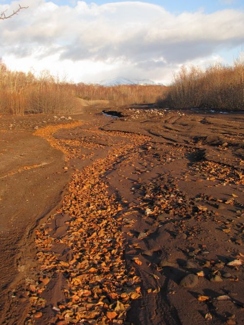
[[(124, 85), (104, 87), (97, 84), (71, 83), (48, 71), (35, 77), (31, 72), (11, 71), (0, 62), (0, 113), (61, 114), (77, 109), (78, 100), (105, 100), (109, 105), (155, 102), (164, 86)], [(92, 102), (90, 102), (92, 104)]]

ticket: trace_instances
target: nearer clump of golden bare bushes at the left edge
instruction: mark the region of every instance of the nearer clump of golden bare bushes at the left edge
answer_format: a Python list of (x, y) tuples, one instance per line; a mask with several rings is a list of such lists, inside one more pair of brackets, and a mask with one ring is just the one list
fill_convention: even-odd
[(32, 73), (8, 70), (0, 63), (0, 112), (65, 113), (77, 105), (75, 90), (48, 72), (36, 78)]

